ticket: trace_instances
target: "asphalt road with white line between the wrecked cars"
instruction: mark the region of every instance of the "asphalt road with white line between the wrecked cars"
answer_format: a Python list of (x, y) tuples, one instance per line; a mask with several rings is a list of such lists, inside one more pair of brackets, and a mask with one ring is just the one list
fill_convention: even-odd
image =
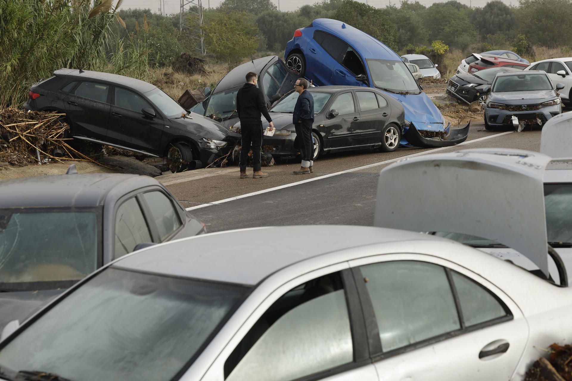
[[(400, 148), (393, 153), (366, 150), (330, 154), (315, 162), (314, 173), (310, 175), (292, 174), (300, 166), (292, 161), (263, 167), (269, 177), (262, 179), (239, 179), (236, 166), (170, 174), (157, 179), (185, 207), (193, 207), (191, 212), (206, 224), (209, 232), (291, 224), (371, 226), (379, 171), (391, 162), (410, 155), (482, 147), (538, 151), (540, 137), (539, 129), (521, 133), (489, 132), (484, 130), (482, 121), (473, 121), (467, 141), (459, 146)], [(217, 203), (221, 200), (223, 202)], [(391, 202), (391, 195), (387, 195), (387, 202)]]

